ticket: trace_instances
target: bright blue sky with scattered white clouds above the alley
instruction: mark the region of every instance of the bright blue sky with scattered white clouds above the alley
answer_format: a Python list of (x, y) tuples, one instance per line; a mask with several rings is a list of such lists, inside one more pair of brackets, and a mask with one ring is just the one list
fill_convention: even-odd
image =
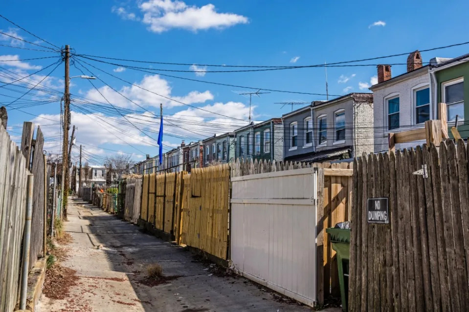
[[(270, 93), (252, 97), (254, 121), (291, 110), (279, 102), (326, 99), (324, 67), (214, 71), (361, 60), (468, 42), (463, 31), (468, 10), (468, 1), (442, 5), (434, 0), (6, 0), (0, 14), (31, 34), (0, 19), (0, 102), (9, 105), (8, 131), (14, 141), (21, 141), (22, 122), (32, 121), (41, 125), (46, 152), (59, 154), (65, 67), (54, 50), (68, 44), (70, 76), (97, 78), (73, 78), (70, 84), (71, 125), (77, 127), (76, 146), (83, 146), (84, 161), (101, 165), (115, 153), (140, 161), (158, 153), (160, 104), (167, 151), (181, 140), (187, 144), (246, 125), (249, 97), (240, 93), (256, 88), (299, 92), (261, 90)], [(469, 44), (423, 52), (422, 57), (428, 62), (466, 53)], [(377, 82), (376, 64), (403, 64), (406, 58), (329, 66), (329, 99), (370, 92), (368, 87)], [(393, 76), (404, 71), (405, 65), (392, 66)], [(78, 161), (77, 148), (72, 161)]]

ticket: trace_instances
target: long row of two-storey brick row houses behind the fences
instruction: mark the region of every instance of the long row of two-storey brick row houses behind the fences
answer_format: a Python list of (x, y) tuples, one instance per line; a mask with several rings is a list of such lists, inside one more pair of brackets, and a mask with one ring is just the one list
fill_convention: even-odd
[[(233, 132), (199, 142), (184, 142), (163, 155), (134, 166), (134, 172), (187, 170), (228, 163), (236, 158), (320, 162), (351, 159), (363, 152), (388, 149), (388, 133), (424, 127), (436, 119), (438, 103), (447, 104), (447, 120), (458, 116), (459, 132), (467, 137), (469, 126), (469, 54), (454, 59), (422, 61), (419, 51), (407, 57), (406, 72), (392, 77), (391, 65), (378, 65), (378, 83), (372, 93), (349, 93), (311, 104), (281, 118), (250, 123)], [(465, 101), (465, 99), (468, 99)], [(468, 104), (465, 104), (468, 103)], [(465, 133), (466, 132), (466, 133)], [(417, 146), (423, 142), (397, 145)]]

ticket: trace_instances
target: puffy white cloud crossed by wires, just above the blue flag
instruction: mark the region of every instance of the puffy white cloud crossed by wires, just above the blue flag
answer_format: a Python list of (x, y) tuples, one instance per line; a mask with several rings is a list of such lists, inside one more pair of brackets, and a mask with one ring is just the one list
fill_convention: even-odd
[[(159, 107), (159, 104), (162, 103), (165, 107), (171, 108), (183, 105), (166, 98), (172, 98), (185, 104), (204, 103), (206, 101), (213, 100), (213, 94), (208, 90), (204, 92), (191, 91), (184, 96), (175, 96), (172, 94), (172, 88), (169, 83), (166, 80), (160, 78), (159, 75), (147, 75), (140, 82), (135, 82), (134, 84), (138, 85), (139, 87), (135, 85), (125, 85), (118, 89), (118, 91), (127, 98), (142, 106)], [(155, 93), (148, 92), (144, 89), (155, 92), (166, 98), (158, 96)], [(99, 88), (99, 91), (104, 95), (104, 97), (106, 97), (106, 99), (108, 99), (109, 102), (114, 105), (121, 107), (135, 106), (129, 100), (125, 99), (120, 94), (112, 90), (109, 86), (102, 86)], [(106, 100), (103, 99), (101, 94), (99, 94), (96, 89), (90, 89), (87, 92), (86, 98), (98, 102), (106, 102)]]

